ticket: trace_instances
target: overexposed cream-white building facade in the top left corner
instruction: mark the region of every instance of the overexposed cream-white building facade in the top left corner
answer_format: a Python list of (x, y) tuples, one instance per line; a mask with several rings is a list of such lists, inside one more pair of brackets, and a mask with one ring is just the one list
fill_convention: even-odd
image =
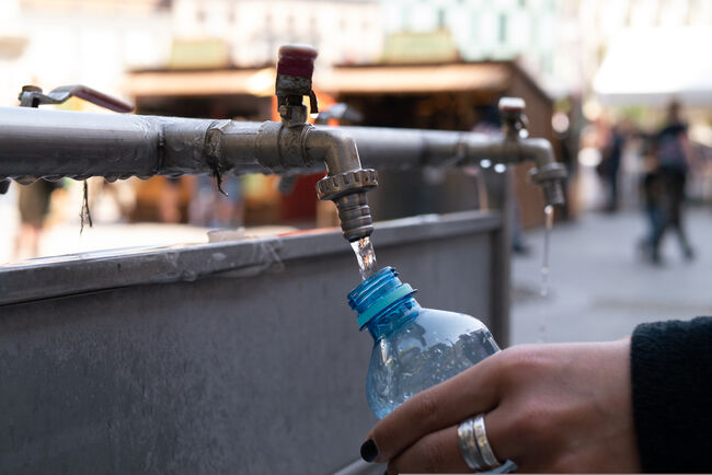
[(131, 68), (170, 54), (171, 16), (161, 0), (2, 0), (0, 104), (14, 105), (20, 88), (85, 83), (120, 93)]

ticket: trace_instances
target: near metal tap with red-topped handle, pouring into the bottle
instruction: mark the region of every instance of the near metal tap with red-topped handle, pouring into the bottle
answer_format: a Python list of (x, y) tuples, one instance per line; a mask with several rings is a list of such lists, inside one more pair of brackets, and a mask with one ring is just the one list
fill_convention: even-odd
[[(292, 147), (307, 149), (305, 154), (324, 161), (328, 174), (317, 183), (317, 194), (336, 205), (344, 238), (358, 241), (374, 232), (366, 192), (378, 186), (378, 177), (375, 170), (361, 167), (353, 138), (336, 129), (315, 129), (306, 124), (303, 96), (310, 99), (311, 113), (319, 112), (311, 85), (317, 55), (317, 49), (307, 45), (279, 48), (275, 93), (282, 125), (277, 142), (288, 141)], [(265, 131), (269, 127), (266, 125)]]

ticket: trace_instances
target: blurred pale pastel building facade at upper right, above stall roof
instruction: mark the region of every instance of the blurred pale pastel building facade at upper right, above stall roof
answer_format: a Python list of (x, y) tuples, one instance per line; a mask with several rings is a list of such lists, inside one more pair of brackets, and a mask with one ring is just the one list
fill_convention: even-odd
[(429, 35), (440, 47), (421, 59), (519, 58), (554, 96), (589, 93), (610, 43), (625, 28), (712, 25), (708, 0), (381, 0), (381, 7), (386, 58), (418, 59), (401, 53)]

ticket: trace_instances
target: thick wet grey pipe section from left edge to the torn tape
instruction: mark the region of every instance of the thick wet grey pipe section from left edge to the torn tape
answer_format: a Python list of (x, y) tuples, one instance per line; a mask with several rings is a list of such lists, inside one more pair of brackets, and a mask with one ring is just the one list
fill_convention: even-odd
[[(0, 177), (204, 173), (211, 120), (0, 108)], [(171, 166), (165, 166), (165, 162)]]

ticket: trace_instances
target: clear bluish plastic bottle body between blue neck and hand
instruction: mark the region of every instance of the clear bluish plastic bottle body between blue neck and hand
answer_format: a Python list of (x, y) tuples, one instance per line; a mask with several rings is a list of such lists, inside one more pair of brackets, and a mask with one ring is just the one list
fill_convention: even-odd
[(414, 394), (499, 350), (479, 320), (462, 313), (423, 309), (411, 300), (417, 315), (374, 343), (366, 397), (379, 419)]

